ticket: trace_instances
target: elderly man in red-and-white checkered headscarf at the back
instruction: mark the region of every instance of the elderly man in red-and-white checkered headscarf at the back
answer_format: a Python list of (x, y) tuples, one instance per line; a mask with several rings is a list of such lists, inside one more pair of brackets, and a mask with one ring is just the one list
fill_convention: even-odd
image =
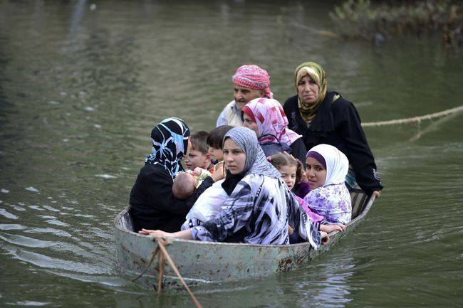
[(241, 65), (231, 79), (234, 84), (234, 100), (220, 113), (217, 127), (243, 125), (241, 109), (244, 105), (255, 98), (274, 97), (270, 90), (269, 73), (255, 64)]

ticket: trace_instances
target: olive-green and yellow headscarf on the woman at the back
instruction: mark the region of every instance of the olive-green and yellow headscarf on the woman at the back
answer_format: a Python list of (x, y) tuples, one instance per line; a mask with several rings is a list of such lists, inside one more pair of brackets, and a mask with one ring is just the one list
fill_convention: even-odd
[[(311, 78), (316, 82), (318, 85), (318, 99), (313, 104), (306, 104), (301, 100), (298, 93), (298, 83), (301, 79), (305, 76), (309, 75)], [(296, 93), (298, 93), (298, 107), (299, 112), (301, 113), (301, 117), (304, 121), (310, 123), (312, 122), (313, 118), (317, 114), (318, 107), (320, 103), (323, 102), (326, 95), (326, 73), (325, 70), (318, 65), (317, 63), (313, 62), (304, 62), (296, 68), (294, 71), (294, 83), (296, 86)]]

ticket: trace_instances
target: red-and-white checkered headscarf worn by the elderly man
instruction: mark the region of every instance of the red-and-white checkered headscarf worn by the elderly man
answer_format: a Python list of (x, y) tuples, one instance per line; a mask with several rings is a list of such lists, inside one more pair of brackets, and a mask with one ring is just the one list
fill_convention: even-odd
[(235, 85), (254, 90), (265, 90), (266, 97), (274, 98), (274, 93), (270, 90), (269, 73), (255, 64), (241, 65), (231, 79)]

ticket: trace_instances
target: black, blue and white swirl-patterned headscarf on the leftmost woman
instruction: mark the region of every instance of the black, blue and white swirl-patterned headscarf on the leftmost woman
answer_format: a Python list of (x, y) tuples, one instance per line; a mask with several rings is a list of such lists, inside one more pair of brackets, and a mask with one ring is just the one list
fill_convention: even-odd
[(151, 131), (152, 151), (145, 164), (159, 164), (170, 173), (172, 179), (182, 171), (180, 161), (184, 158), (189, 139), (187, 124), (177, 117), (162, 120)]

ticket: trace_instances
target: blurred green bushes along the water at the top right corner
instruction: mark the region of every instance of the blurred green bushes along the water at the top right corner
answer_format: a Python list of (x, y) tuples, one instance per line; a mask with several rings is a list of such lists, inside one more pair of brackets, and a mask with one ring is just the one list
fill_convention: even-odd
[(447, 46), (461, 46), (461, 1), (347, 0), (330, 17), (343, 38), (383, 39), (394, 35), (442, 33)]

